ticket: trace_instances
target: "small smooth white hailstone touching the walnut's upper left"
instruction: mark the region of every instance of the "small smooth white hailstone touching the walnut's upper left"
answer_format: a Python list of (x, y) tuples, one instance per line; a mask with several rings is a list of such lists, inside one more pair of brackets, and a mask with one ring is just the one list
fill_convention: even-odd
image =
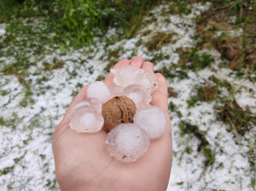
[(110, 91), (106, 85), (101, 81), (91, 83), (86, 91), (87, 97), (96, 97), (102, 103), (107, 102), (111, 99)]

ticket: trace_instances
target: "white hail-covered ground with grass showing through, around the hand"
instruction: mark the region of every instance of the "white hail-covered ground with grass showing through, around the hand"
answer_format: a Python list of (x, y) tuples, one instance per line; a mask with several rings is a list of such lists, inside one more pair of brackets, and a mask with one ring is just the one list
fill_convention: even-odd
[[(234, 98), (241, 108), (256, 114), (256, 85), (248, 78), (238, 78), (236, 72), (220, 68), (223, 61), (215, 49), (203, 49), (212, 58), (209, 67), (198, 71), (188, 70), (185, 77), (178, 74), (180, 60), (178, 49), (194, 47), (197, 40), (195, 18), (210, 6), (193, 4), (191, 14), (171, 15), (168, 4), (161, 5), (148, 18), (138, 35), (108, 45), (115, 39), (116, 29), (108, 31), (102, 39), (80, 49), (63, 49), (54, 45), (45, 46), (42, 56), (29, 49), (24, 56), (28, 65), (21, 80), (15, 74), (0, 73), (0, 190), (60, 190), (56, 183), (51, 137), (62, 119), (68, 104), (83, 85), (88, 85), (99, 76), (105, 76), (105, 67), (111, 60), (132, 59), (135, 55), (145, 60), (154, 60), (155, 70), (167, 68), (174, 77), (167, 77), (178, 97), (170, 97), (170, 117), (173, 129), (173, 162), (168, 191), (225, 190), (252, 191), (255, 189), (255, 169), (252, 167), (255, 148), (255, 126), (243, 136), (230, 130), (230, 126), (218, 120), (218, 100), (197, 100), (190, 106), (198, 87), (216, 85), (209, 77), (226, 80), (233, 88)], [(31, 24), (31, 22), (30, 22)], [(26, 25), (26, 21), (24, 21)], [(44, 20), (32, 22), (34, 30), (44, 31)], [(0, 43), (6, 37), (6, 25), (0, 25)], [(236, 35), (242, 35), (238, 30)], [(158, 50), (149, 51), (148, 43), (156, 34), (172, 34), (172, 42)], [(54, 33), (46, 36), (54, 37)], [(26, 40), (26, 35), (16, 37), (17, 42)], [(36, 41), (36, 38), (35, 38)], [(38, 42), (34, 42), (38, 43)], [(29, 47), (29, 44), (28, 44)], [(9, 47), (11, 49), (19, 48)], [(110, 56), (117, 51), (116, 56)], [(8, 48), (2, 50), (8, 51)], [(62, 66), (54, 68), (54, 63)], [(0, 57), (0, 71), (17, 62), (14, 56)], [(189, 64), (189, 63), (188, 63)], [(46, 68), (48, 66), (48, 68)], [(49, 69), (49, 67), (51, 67)], [(254, 76), (255, 77), (255, 76)], [(24, 86), (29, 85), (28, 88)], [(226, 87), (218, 86), (220, 97), (230, 96)], [(30, 91), (30, 92), (28, 92)], [(223, 105), (223, 104), (222, 104)], [(195, 126), (199, 133), (184, 133), (186, 126)], [(202, 138), (199, 139), (199, 136)], [(200, 144), (204, 144), (198, 149)], [(255, 161), (254, 161), (255, 162)]]

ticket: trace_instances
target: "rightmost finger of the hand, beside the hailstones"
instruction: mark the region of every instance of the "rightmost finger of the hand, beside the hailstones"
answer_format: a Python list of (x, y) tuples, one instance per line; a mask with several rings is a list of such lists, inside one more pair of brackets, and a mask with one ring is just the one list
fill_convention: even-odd
[(150, 104), (162, 108), (165, 112), (169, 114), (168, 111), (168, 91), (167, 83), (164, 76), (160, 73), (156, 73), (158, 79), (158, 88), (152, 93), (152, 100)]

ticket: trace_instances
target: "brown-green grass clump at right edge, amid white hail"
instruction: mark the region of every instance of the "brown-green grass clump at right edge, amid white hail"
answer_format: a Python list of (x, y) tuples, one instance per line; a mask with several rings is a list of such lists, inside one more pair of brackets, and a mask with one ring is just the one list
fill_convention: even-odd
[[(212, 76), (210, 79), (216, 85), (206, 85), (197, 87), (194, 91), (195, 96), (190, 96), (187, 100), (188, 108), (194, 107), (200, 104), (200, 101), (204, 102), (216, 102), (215, 112), (217, 120), (223, 121), (230, 126), (230, 130), (244, 135), (246, 132), (252, 130), (252, 127), (256, 125), (256, 116), (250, 111), (250, 108), (244, 110), (234, 99), (236, 94), (235, 88), (226, 80), (220, 80)], [(226, 88), (229, 95), (220, 96), (220, 89)]]

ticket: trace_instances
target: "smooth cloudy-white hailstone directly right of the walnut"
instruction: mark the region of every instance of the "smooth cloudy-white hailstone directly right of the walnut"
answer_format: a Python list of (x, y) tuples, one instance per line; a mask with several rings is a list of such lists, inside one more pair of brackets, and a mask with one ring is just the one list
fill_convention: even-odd
[(133, 121), (147, 132), (150, 139), (162, 136), (167, 127), (166, 114), (157, 106), (137, 110)]

